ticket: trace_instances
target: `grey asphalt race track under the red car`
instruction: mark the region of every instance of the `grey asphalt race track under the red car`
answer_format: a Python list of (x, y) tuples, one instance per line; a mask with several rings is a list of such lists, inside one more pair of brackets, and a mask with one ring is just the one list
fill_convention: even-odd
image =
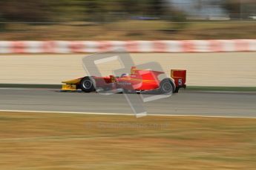
[[(136, 95), (136, 94), (135, 94)], [(143, 103), (148, 115), (203, 115), (256, 118), (255, 92), (181, 90)], [(60, 92), (56, 89), (0, 89), (0, 110), (133, 114), (123, 94)]]

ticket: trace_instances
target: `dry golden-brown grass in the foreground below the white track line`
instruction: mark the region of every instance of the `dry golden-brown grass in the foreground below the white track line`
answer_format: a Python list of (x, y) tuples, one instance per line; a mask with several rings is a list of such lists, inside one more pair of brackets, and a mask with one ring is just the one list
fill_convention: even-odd
[(255, 169), (256, 120), (0, 112), (1, 169)]

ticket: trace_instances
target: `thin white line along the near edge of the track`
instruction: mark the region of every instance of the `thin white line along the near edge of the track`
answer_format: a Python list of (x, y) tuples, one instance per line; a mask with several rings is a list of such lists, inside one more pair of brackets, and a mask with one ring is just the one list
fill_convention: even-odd
[[(126, 115), (126, 116), (135, 116), (134, 114), (128, 113), (100, 113), (100, 112), (56, 112), (56, 111), (36, 111), (36, 110), (1, 110), (0, 112), (29, 112), (29, 113), (60, 113), (60, 114), (81, 114), (81, 115)], [(256, 117), (243, 117), (243, 116), (220, 116), (220, 115), (157, 115), (150, 114), (148, 116), (170, 116), (170, 117), (202, 117), (202, 118), (252, 118)]]

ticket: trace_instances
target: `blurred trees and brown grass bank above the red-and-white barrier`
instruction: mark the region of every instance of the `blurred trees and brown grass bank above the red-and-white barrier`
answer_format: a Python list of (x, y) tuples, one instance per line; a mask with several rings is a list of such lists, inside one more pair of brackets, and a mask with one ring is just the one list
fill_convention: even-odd
[(1, 0), (8, 40), (256, 38), (255, 0)]

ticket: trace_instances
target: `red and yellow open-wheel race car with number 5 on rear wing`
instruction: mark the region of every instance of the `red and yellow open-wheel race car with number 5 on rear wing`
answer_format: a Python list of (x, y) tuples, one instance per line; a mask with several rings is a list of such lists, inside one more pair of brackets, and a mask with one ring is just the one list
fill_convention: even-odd
[(160, 93), (178, 92), (181, 87), (186, 88), (186, 70), (171, 69), (171, 78), (160, 80), (159, 75), (164, 72), (131, 67), (131, 74), (122, 74), (119, 77), (85, 76), (70, 81), (63, 81), (62, 90), (70, 91), (82, 89), (83, 92), (93, 92), (96, 89), (111, 90), (123, 89), (127, 91), (151, 91)]

